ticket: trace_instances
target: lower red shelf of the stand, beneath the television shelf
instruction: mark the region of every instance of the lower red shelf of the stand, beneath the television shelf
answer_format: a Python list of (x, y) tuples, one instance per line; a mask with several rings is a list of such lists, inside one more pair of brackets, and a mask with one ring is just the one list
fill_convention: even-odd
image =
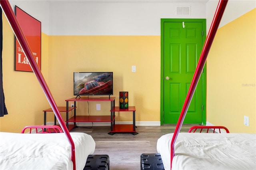
[[(113, 116), (113, 121), (114, 119), (115, 119), (115, 116)], [(66, 122), (113, 122), (113, 121), (111, 121), (110, 116), (76, 116), (76, 117), (71, 117)]]

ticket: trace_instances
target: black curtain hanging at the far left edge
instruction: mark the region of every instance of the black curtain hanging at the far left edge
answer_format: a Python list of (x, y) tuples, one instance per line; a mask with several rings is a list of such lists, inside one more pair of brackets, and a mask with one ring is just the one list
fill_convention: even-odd
[(0, 117), (7, 115), (7, 109), (4, 103), (4, 89), (3, 89), (3, 69), (2, 69), (2, 50), (3, 50), (3, 22), (2, 22), (2, 8), (0, 8)]

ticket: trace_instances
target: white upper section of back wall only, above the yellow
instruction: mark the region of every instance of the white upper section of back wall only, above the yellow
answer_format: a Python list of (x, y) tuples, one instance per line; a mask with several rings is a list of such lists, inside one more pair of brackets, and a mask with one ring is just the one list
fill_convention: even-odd
[[(53, 1), (50, 35), (160, 35), (161, 18), (206, 18), (206, 3), (156, 1)], [(177, 1), (175, 1), (177, 2)], [(176, 16), (176, 6), (191, 6), (191, 16)]]

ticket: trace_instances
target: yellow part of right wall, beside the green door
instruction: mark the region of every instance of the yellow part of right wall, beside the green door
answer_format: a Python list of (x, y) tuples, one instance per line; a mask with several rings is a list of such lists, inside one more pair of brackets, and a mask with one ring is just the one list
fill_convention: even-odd
[(255, 21), (256, 9), (218, 29), (207, 59), (207, 121), (230, 132), (256, 133)]

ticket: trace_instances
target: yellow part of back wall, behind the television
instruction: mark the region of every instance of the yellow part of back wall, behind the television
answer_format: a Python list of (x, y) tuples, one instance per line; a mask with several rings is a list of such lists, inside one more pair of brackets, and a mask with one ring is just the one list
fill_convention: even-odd
[[(49, 36), (49, 44), (49, 82), (58, 105), (74, 97), (73, 72), (113, 71), (116, 106), (119, 91), (128, 91), (136, 121), (160, 121), (160, 36)], [(89, 105), (90, 115), (110, 114), (108, 102)], [(78, 103), (77, 111), (87, 115), (88, 104)], [(116, 121), (132, 121), (132, 113)]]

